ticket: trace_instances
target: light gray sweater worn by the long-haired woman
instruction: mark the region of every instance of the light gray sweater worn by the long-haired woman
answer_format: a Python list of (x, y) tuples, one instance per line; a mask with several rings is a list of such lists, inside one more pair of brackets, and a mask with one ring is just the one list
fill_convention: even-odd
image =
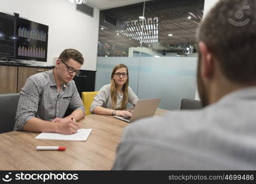
[[(122, 97), (123, 94), (117, 94), (117, 102), (116, 107), (117, 109), (122, 104)], [(128, 86), (128, 102), (132, 105), (135, 105), (138, 101), (137, 95), (132, 91), (132, 88)], [(100, 106), (108, 109), (113, 109), (113, 105), (111, 102), (111, 94), (110, 94), (110, 84), (103, 86), (100, 88), (100, 91), (98, 91), (98, 94), (94, 97), (94, 102), (92, 102), (92, 105), (90, 105), (90, 112), (92, 113), (94, 108)]]

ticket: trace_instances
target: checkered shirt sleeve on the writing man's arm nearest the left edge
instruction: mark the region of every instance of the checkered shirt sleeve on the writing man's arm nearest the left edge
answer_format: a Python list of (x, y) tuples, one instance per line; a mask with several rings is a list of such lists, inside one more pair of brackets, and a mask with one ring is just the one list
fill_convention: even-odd
[(39, 85), (36, 84), (36, 81), (30, 78), (26, 80), (25, 86), (23, 86), (20, 92), (14, 130), (22, 130), (26, 122), (36, 116), (36, 112), (38, 111), (39, 91)]

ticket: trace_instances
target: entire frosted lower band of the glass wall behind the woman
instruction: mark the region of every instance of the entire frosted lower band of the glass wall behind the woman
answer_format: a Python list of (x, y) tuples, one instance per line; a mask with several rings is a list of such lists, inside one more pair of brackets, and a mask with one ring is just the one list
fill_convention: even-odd
[(196, 62), (196, 58), (98, 57), (95, 90), (110, 83), (113, 67), (123, 63), (129, 69), (129, 86), (138, 98), (162, 98), (159, 108), (179, 109), (183, 98), (194, 99)]

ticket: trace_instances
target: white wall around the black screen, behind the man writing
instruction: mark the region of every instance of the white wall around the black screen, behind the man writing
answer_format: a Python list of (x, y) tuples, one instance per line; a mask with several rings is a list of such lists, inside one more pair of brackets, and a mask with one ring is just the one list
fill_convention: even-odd
[(96, 71), (99, 10), (94, 8), (94, 18), (78, 12), (76, 5), (66, 0), (8, 0), (0, 1), (0, 12), (19, 13), (20, 17), (49, 26), (47, 63), (54, 65), (65, 48), (75, 48), (82, 53), (84, 70)]

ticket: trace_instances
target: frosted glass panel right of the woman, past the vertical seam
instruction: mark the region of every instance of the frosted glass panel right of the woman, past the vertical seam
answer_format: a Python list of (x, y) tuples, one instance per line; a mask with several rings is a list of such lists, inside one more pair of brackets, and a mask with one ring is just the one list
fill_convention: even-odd
[(159, 108), (180, 109), (183, 98), (194, 99), (196, 58), (142, 58), (138, 98), (162, 98)]

